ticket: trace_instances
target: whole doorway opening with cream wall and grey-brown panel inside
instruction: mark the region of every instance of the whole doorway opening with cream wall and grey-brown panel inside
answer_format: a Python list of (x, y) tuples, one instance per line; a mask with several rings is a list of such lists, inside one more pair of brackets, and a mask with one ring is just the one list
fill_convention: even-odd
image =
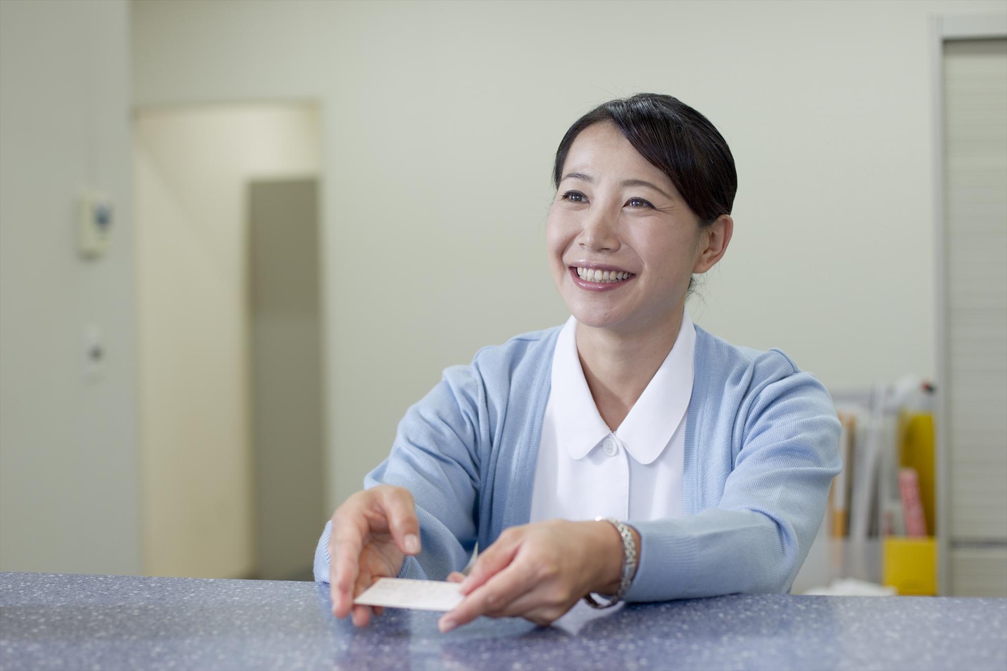
[(323, 510), (319, 114), (134, 119), (144, 570), (309, 578)]

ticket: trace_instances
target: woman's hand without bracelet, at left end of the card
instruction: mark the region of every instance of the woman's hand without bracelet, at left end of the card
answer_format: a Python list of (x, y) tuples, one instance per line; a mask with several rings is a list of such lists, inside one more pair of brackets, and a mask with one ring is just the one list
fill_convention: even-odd
[[(407, 554), (420, 551), (420, 523), (408, 489), (379, 485), (357, 492), (332, 513), (328, 540), (332, 614), (353, 624), (371, 621), (370, 606), (353, 599), (379, 577), (395, 577)], [(380, 613), (380, 611), (379, 611)]]

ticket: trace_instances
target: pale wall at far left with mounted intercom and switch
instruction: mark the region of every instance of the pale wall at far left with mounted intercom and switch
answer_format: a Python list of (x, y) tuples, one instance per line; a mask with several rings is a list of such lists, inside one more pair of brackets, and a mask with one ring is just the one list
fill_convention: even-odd
[[(0, 570), (140, 572), (128, 8), (0, 2)], [(97, 261), (85, 187), (115, 205)]]

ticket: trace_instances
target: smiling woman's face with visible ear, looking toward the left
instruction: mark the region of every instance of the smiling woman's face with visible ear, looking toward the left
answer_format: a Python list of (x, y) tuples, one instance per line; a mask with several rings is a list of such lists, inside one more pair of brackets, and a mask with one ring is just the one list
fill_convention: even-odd
[(613, 124), (581, 131), (546, 235), (553, 280), (578, 322), (631, 334), (674, 321), (692, 274), (720, 257), (707, 259), (708, 237), (671, 179)]

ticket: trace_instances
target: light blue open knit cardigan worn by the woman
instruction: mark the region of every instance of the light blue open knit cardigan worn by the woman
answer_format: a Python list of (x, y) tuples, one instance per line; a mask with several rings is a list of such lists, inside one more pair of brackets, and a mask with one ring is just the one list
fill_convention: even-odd
[[(560, 328), (479, 350), (406, 412), (391, 456), (365, 479), (416, 501), (423, 550), (401, 577), (444, 579), (476, 542), (528, 523)], [(839, 430), (825, 387), (781, 351), (735, 347), (697, 326), (685, 517), (628, 520), (641, 547), (626, 601), (789, 591), (841, 467)], [(315, 551), (324, 582), (329, 524)]]

